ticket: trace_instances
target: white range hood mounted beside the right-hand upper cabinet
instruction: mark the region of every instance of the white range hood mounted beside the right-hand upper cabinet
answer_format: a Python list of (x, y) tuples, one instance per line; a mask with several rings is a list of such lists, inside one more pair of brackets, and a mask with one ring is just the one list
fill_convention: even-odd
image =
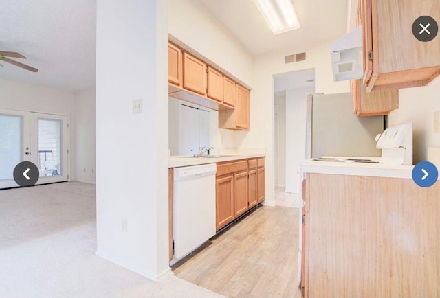
[(364, 76), (362, 26), (342, 36), (330, 46), (333, 80), (353, 80)]

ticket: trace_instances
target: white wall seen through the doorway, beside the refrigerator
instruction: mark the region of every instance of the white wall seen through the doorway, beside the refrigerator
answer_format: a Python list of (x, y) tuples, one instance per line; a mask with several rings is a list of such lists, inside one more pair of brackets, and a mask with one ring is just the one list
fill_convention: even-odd
[(286, 192), (300, 192), (300, 161), (306, 159), (307, 94), (314, 88), (286, 91)]

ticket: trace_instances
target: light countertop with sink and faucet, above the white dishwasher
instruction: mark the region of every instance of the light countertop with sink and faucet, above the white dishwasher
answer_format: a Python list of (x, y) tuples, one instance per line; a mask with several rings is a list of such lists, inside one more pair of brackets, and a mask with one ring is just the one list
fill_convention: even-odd
[(205, 165), (207, 163), (221, 163), (223, 161), (254, 159), (258, 157), (265, 157), (265, 154), (212, 155), (211, 157), (170, 156), (168, 168), (187, 167), (190, 165)]

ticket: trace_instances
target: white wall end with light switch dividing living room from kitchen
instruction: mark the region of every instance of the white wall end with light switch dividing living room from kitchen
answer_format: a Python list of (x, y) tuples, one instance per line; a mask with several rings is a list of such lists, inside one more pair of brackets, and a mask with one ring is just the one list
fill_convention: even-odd
[(170, 271), (167, 5), (97, 2), (96, 254), (150, 279)]

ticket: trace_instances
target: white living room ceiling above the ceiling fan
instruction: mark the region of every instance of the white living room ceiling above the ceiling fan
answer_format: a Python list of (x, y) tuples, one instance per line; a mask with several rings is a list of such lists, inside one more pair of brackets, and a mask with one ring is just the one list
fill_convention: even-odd
[(1, 0), (0, 51), (39, 69), (0, 61), (0, 79), (80, 90), (95, 84), (96, 0)]

